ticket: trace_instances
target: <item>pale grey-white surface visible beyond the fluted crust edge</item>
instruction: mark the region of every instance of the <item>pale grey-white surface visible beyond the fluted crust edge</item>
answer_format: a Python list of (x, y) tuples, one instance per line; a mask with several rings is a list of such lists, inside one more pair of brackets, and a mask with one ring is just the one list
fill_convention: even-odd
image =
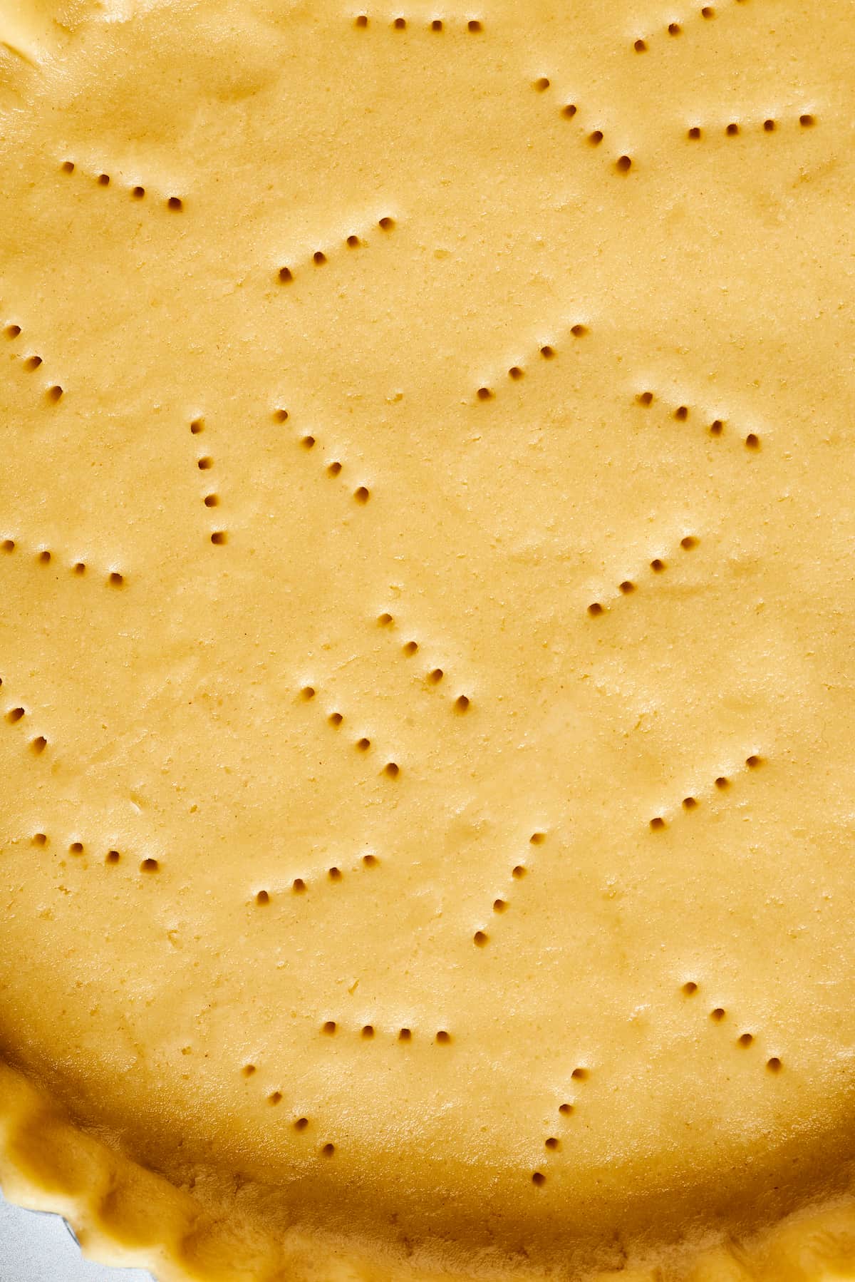
[(0, 1194), (0, 1282), (151, 1282), (140, 1269), (85, 1260), (59, 1215), (10, 1206)]

